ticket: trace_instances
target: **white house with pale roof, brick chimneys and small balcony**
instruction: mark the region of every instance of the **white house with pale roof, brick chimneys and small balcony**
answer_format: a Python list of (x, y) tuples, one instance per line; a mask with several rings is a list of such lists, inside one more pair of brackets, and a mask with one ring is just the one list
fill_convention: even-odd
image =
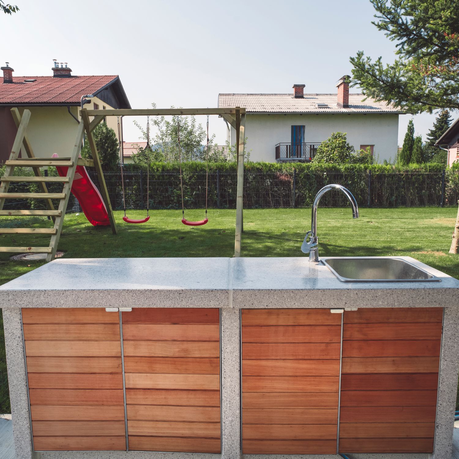
[[(347, 75), (337, 94), (219, 94), (218, 106), (246, 108), (246, 150), (251, 161), (309, 161), (332, 132), (346, 132), (356, 150), (370, 146), (376, 157), (397, 155), (398, 115), (403, 112), (362, 94), (349, 94)], [(235, 129), (230, 130), (235, 144)]]

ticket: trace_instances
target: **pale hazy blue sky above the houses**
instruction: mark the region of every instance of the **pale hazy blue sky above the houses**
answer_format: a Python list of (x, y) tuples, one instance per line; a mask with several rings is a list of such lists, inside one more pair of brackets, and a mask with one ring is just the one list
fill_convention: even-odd
[[(13, 75), (51, 75), (53, 59), (73, 75), (118, 74), (132, 108), (216, 107), (218, 93), (290, 93), (294, 83), (305, 93), (336, 93), (358, 50), (395, 58), (367, 0), (6, 3), (20, 8), (0, 17), (0, 62), (10, 62)], [(435, 114), (400, 116), (399, 145), (411, 118), (425, 140)], [(125, 140), (139, 140), (134, 123), (123, 126)], [(223, 144), (224, 121), (210, 117), (209, 129)]]

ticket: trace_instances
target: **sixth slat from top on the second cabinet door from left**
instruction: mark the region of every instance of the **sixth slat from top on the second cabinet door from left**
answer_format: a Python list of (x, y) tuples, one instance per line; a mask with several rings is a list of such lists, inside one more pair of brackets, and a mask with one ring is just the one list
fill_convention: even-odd
[(140, 405), (220, 406), (220, 391), (126, 389), (126, 403)]

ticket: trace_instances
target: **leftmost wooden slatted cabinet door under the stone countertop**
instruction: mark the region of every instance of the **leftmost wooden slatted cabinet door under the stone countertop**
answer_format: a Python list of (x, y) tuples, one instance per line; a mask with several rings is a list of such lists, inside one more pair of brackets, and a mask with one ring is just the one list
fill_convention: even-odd
[(23, 308), (35, 451), (125, 450), (118, 313)]

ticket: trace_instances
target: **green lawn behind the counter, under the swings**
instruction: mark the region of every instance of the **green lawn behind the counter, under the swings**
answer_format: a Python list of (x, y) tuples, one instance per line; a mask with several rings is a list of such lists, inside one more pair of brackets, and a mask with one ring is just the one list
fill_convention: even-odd
[[(459, 278), (459, 255), (448, 253), (456, 212), (454, 207), (363, 208), (360, 218), (353, 220), (349, 208), (320, 208), (319, 256), (408, 255)], [(91, 226), (83, 214), (67, 215), (59, 250), (69, 258), (233, 256), (234, 210), (211, 210), (209, 223), (196, 228), (181, 224), (181, 212), (176, 210), (152, 211), (150, 221), (142, 225), (125, 224), (122, 216), (122, 212), (115, 212), (118, 235), (114, 236), (110, 228)], [(142, 211), (129, 212), (131, 218), (144, 216)], [(245, 210), (241, 255), (304, 256), (300, 246), (310, 229), (310, 216), (310, 209)], [(201, 219), (203, 211), (186, 212), (186, 217)], [(0, 236), (0, 246), (47, 246), (48, 243), (47, 236)], [(9, 255), (1, 254), (0, 284), (42, 264), (12, 262)], [(6, 387), (5, 345), (0, 335), (0, 412), (9, 412)]]

